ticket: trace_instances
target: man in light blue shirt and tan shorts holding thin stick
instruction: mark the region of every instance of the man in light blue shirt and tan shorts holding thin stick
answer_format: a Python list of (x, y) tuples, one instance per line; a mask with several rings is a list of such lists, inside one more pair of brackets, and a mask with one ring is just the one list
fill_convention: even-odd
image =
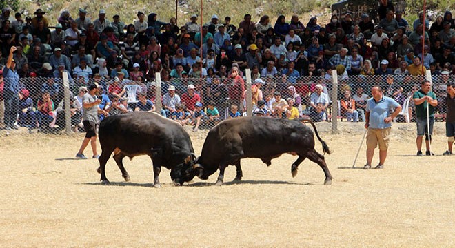
[(376, 169), (382, 169), (385, 158), (387, 158), (392, 120), (401, 112), (401, 105), (394, 99), (383, 96), (383, 90), (377, 85), (372, 87), (372, 96), (372, 99), (367, 101), (365, 113), (365, 128), (368, 130), (367, 164), (363, 169), (370, 169), (372, 167), (374, 149), (376, 149), (378, 143), (379, 164), (376, 166)]

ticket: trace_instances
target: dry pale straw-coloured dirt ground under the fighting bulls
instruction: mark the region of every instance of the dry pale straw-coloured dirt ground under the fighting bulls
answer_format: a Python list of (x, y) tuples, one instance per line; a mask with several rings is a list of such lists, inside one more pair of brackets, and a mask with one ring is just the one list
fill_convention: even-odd
[[(151, 187), (150, 158), (125, 159), (130, 183), (111, 159), (105, 186), (97, 160), (74, 159), (83, 134), (0, 133), (0, 246), (455, 247), (455, 156), (441, 155), (447, 139), (437, 124), (436, 156), (414, 156), (415, 124), (396, 123), (385, 168), (366, 171), (365, 145), (351, 168), (361, 124), (338, 123), (337, 135), (319, 124), (333, 151), (325, 156), (330, 186), (307, 160), (292, 178), (288, 154), (270, 167), (245, 159), (243, 180), (232, 183), (229, 167), (221, 187), (218, 173), (175, 187), (163, 169), (162, 189)], [(196, 154), (205, 134), (190, 134)]]

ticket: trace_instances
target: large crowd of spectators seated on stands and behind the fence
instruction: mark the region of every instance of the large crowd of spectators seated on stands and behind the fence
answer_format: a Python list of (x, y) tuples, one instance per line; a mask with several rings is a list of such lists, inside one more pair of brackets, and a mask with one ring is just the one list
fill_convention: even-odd
[[(32, 106), (45, 99), (49, 104), (38, 110), (47, 111), (60, 103), (61, 79), (68, 72), (78, 96), (83, 91), (80, 87), (97, 81), (105, 95), (101, 106), (109, 107), (112, 114), (128, 109), (153, 111), (154, 81), (159, 73), (163, 82), (161, 114), (182, 124), (194, 123), (185, 121), (194, 118), (198, 123), (195, 130), (199, 110), (205, 109), (201, 119), (211, 124), (245, 111), (247, 68), (252, 73), (254, 114), (274, 118), (308, 114), (323, 121), (331, 103), (331, 87), (324, 80), (331, 79), (336, 69), (342, 81), (343, 113), (358, 121), (365, 116), (356, 110), (362, 104), (362, 100), (356, 103), (356, 95), (368, 94), (370, 88), (352, 90), (347, 83), (352, 76), (383, 76), (385, 83), (387, 75), (406, 80), (406, 76), (425, 75), (426, 70), (433, 75), (455, 74), (452, 13), (445, 12), (431, 25), (425, 20), (423, 25), (423, 13), (407, 21), (402, 12), (394, 11), (393, 4), (385, 2), (387, 8), (383, 7), (383, 16), (376, 23), (366, 13), (353, 17), (347, 12), (334, 14), (329, 23), (318, 23), (312, 17), (306, 25), (297, 15), (290, 21), (281, 15), (272, 23), (267, 15), (254, 22), (245, 14), (236, 25), (230, 17), (221, 21), (213, 14), (202, 27), (196, 14), (179, 26), (175, 18), (163, 21), (155, 13), (145, 18), (139, 11), (136, 21), (126, 24), (119, 14), (109, 20), (105, 10), (99, 10), (92, 21), (79, 8), (76, 19), (63, 11), (58, 23), (49, 23), (41, 9), (33, 18), (24, 18), (20, 12), (13, 14), (4, 8), (0, 67), (10, 47), (17, 46), (14, 61), (21, 79), (44, 79), (40, 85), (33, 85), (37, 82), (33, 80), (21, 85), (28, 90)], [(48, 95), (43, 96), (45, 93)]]

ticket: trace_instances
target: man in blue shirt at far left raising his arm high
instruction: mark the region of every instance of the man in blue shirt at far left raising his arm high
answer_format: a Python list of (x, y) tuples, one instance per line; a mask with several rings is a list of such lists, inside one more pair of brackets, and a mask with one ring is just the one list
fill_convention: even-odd
[[(12, 54), (16, 51), (13, 45), (3, 69), (5, 85), (3, 88), (3, 98), (5, 100), (5, 129), (10, 131), (14, 128), (14, 121), (19, 113), (19, 74), (17, 74), (16, 62), (12, 59)], [(8, 133), (7, 133), (8, 134)]]

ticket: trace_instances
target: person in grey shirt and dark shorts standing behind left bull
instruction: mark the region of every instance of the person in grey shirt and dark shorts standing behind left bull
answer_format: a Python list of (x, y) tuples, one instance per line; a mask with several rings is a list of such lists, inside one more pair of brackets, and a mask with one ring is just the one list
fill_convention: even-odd
[(88, 143), (92, 146), (93, 156), (92, 158), (99, 158), (97, 153), (97, 123), (98, 114), (104, 114), (108, 116), (108, 112), (101, 110), (98, 105), (101, 103), (101, 99), (98, 99), (99, 85), (97, 83), (90, 83), (88, 85), (88, 92), (82, 96), (82, 123), (85, 128), (85, 138), (82, 141), (81, 148), (77, 152), (76, 157), (87, 159), (83, 154), (83, 150), (87, 147)]

